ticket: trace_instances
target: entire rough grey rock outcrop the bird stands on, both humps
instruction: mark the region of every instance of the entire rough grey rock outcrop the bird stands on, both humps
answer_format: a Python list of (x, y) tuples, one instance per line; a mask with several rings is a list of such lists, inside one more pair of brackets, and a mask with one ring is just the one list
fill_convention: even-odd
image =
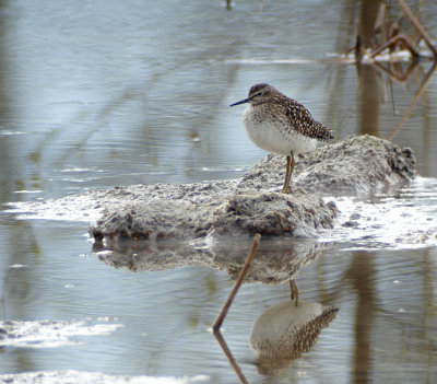
[(106, 210), (90, 234), (96, 241), (190, 240), (211, 232), (315, 236), (320, 229), (333, 228), (338, 214), (335, 203), (321, 196), (363, 196), (399, 187), (412, 181), (414, 165), (409, 149), (375, 137), (351, 137), (300, 156), (290, 195), (279, 193), (285, 159), (272, 154), (239, 181), (114, 188), (105, 195)]

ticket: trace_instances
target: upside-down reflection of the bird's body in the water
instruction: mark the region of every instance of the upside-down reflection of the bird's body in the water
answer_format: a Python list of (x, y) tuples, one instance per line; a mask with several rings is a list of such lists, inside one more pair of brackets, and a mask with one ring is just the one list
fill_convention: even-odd
[(339, 309), (286, 300), (269, 307), (255, 321), (250, 346), (257, 353), (257, 365), (265, 375), (280, 374), (293, 359), (307, 352), (321, 329), (331, 323)]

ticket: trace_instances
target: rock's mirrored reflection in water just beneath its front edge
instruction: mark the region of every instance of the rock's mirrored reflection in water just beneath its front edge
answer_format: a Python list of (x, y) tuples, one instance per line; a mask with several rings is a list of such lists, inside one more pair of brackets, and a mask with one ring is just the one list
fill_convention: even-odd
[[(236, 279), (241, 269), (249, 240), (223, 240), (208, 242), (181, 241), (105, 241), (95, 243), (93, 252), (98, 258), (115, 268), (132, 271), (168, 270), (173, 268), (200, 265), (225, 269)], [(316, 260), (333, 244), (317, 243), (315, 240), (265, 238), (261, 242), (257, 257), (251, 264), (245, 282), (260, 281), (279, 283), (294, 278), (299, 269)], [(109, 251), (109, 252), (108, 252)]]

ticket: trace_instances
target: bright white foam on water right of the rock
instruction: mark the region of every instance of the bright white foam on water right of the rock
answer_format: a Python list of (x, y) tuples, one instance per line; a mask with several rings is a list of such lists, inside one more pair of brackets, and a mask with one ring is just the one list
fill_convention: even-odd
[(398, 194), (377, 195), (371, 201), (324, 200), (335, 201), (340, 216), (323, 241), (355, 244), (343, 251), (437, 246), (437, 179), (417, 177)]

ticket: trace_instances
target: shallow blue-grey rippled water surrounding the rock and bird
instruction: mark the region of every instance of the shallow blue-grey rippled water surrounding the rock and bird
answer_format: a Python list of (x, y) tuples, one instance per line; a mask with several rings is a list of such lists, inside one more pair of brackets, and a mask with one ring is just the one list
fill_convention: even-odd
[[(46, 0), (1, 8), (0, 319), (60, 322), (60, 330), (9, 340), (0, 373), (71, 369), (236, 382), (211, 333), (232, 287), (226, 271), (196, 263), (116, 269), (92, 252), (87, 222), (32, 219), (8, 203), (236, 178), (264, 152), (247, 138), (243, 108), (228, 105), (261, 81), (307, 105), (339, 139), (389, 136), (430, 63), (404, 83), (366, 66), (361, 83), (355, 66), (336, 60), (354, 44), (353, 5), (290, 7)], [(423, 22), (437, 37), (437, 7), (426, 7)], [(314, 348), (274, 379), (258, 373), (249, 335), (259, 313), (290, 296), (288, 284), (241, 287), (223, 335), (250, 383), (437, 380), (436, 104), (432, 75), (393, 137), (414, 150), (422, 177), (397, 194), (339, 199), (347, 225), (322, 234), (330, 247), (296, 282), (303, 300), (340, 311)]]

